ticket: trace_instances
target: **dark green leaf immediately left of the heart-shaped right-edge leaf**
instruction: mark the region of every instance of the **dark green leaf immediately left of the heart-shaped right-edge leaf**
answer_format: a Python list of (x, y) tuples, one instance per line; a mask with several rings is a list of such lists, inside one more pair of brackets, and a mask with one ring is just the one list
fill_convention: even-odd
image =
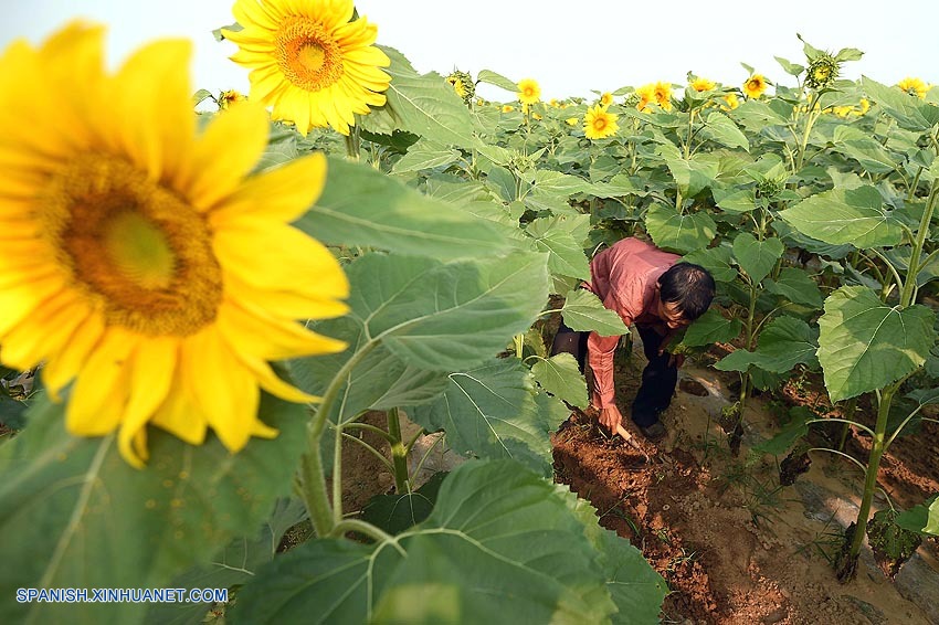
[(747, 371), (751, 366), (771, 373), (792, 371), (796, 364), (816, 362), (817, 332), (801, 319), (778, 317), (760, 332), (756, 351), (738, 349), (718, 361), (718, 371)]

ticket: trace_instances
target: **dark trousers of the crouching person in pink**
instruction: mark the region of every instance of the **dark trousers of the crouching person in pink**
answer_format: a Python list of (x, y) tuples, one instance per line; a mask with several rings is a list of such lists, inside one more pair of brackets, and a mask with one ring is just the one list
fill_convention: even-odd
[[(631, 416), (636, 425), (647, 427), (658, 421), (660, 413), (672, 403), (672, 395), (678, 383), (678, 368), (668, 366), (671, 354), (667, 351), (658, 356), (664, 337), (650, 326), (636, 326), (636, 329), (648, 364), (642, 371), (642, 384), (633, 400)], [(572, 354), (580, 366), (580, 372), (583, 373), (589, 336), (590, 332), (578, 332), (561, 324), (551, 345), (551, 356), (561, 352)]]

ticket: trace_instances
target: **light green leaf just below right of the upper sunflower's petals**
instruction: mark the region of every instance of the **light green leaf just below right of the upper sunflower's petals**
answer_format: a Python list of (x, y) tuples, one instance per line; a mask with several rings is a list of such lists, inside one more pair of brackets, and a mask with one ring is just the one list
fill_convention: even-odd
[(439, 144), (461, 148), (475, 145), (470, 109), (453, 87), (436, 72), (419, 75), (407, 62), (398, 62), (399, 52), (382, 50), (392, 63), (384, 70), (391, 75), (391, 84), (381, 108), (391, 115), (395, 127)]

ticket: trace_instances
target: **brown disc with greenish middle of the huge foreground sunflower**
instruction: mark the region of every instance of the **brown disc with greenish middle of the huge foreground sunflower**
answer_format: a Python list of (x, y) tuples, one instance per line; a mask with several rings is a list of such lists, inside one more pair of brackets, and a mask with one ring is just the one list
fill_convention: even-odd
[(109, 325), (189, 336), (215, 318), (222, 272), (208, 224), (143, 170), (83, 155), (38, 200), (56, 261)]

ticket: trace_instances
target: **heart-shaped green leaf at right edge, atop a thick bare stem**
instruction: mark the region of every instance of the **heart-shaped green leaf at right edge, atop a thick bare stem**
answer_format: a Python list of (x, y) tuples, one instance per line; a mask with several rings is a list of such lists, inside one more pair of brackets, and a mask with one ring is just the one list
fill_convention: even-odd
[(883, 389), (915, 371), (936, 340), (925, 306), (888, 306), (871, 289), (843, 286), (819, 319), (819, 360), (833, 402)]

